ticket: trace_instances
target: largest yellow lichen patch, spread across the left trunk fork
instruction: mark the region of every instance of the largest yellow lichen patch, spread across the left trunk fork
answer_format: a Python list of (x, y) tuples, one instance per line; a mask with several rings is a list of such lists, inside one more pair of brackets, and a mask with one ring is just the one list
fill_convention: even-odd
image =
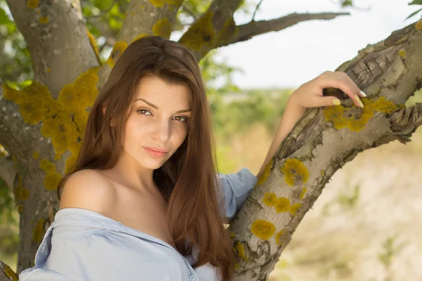
[[(79, 154), (81, 140), (87, 126), (88, 110), (98, 94), (96, 87), (98, 70), (99, 67), (93, 67), (80, 74), (72, 84), (63, 87), (57, 100), (51, 97), (46, 86), (39, 85), (37, 81), (33, 81), (22, 91), (16, 91), (2, 84), (4, 98), (20, 105), (19, 112), (25, 122), (29, 124), (43, 122), (41, 133), (44, 137), (51, 139), (56, 150), (56, 159), (60, 158), (66, 150), (72, 153), (66, 161), (65, 171), (70, 169), (68, 165), (75, 163), (76, 156)], [(59, 174), (52, 163), (49, 164), (46, 159), (43, 160), (40, 166), (47, 169), (47, 174), (51, 174), (45, 178), (46, 189), (55, 189)]]

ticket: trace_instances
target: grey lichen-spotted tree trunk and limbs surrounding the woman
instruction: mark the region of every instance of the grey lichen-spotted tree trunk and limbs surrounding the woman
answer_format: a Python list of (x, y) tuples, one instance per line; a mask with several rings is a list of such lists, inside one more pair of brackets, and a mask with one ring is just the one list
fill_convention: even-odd
[[(152, 1), (132, 0), (108, 63), (99, 65), (79, 1), (8, 1), (34, 68), (34, 82), (23, 91), (5, 85), (0, 88), (0, 143), (13, 159), (13, 163), (5, 161), (7, 169), (2, 166), (0, 171), (2, 176), (8, 173), (13, 178), (20, 212), (18, 273), (34, 266), (35, 253), (58, 211), (56, 185), (75, 162), (89, 107), (110, 67), (134, 39), (145, 34), (170, 37), (182, 2), (156, 1), (154, 5)], [(200, 60), (212, 48), (282, 30), (303, 20), (344, 15), (293, 14), (237, 26), (233, 14), (240, 3), (213, 1), (181, 37), (181, 44), (191, 48)], [(308, 110), (283, 141), (258, 188), (231, 223), (238, 256), (236, 280), (266, 280), (325, 183), (357, 152), (395, 139), (409, 141), (422, 122), (422, 109), (419, 104), (411, 108), (397, 105), (421, 87), (421, 45), (421, 30), (410, 25), (366, 47), (357, 58), (339, 67), (369, 93), (364, 98), (365, 107)], [(360, 119), (353, 120), (349, 115)], [(4, 263), (0, 268), (0, 281), (11, 276)]]

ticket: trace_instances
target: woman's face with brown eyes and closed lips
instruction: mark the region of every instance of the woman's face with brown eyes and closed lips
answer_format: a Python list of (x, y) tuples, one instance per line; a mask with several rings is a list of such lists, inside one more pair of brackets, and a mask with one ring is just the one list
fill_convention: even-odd
[(143, 77), (124, 129), (124, 152), (147, 169), (160, 168), (184, 142), (190, 117), (187, 85)]

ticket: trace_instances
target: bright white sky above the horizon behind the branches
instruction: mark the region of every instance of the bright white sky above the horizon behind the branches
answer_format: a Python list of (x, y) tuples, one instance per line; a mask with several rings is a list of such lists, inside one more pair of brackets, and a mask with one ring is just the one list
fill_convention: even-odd
[[(255, 20), (270, 20), (290, 13), (343, 12), (333, 20), (300, 22), (279, 32), (219, 48), (220, 61), (239, 67), (234, 84), (241, 89), (296, 88), (326, 70), (334, 71), (367, 44), (387, 38), (421, 18), (408, 15), (422, 6), (411, 0), (354, 0), (358, 8), (340, 8), (335, 0), (263, 0)], [(251, 15), (236, 15), (236, 24)]]

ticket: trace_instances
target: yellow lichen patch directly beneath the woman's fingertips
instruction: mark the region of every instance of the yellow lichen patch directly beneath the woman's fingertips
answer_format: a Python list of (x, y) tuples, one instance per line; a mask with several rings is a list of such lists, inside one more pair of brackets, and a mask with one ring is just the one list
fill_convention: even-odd
[[(373, 117), (374, 111), (389, 113), (398, 108), (397, 105), (392, 103), (390, 100), (385, 99), (385, 97), (381, 97), (376, 100), (361, 98), (361, 100), (365, 107), (361, 108), (362, 112), (356, 114), (349, 114), (347, 107), (343, 107), (342, 105), (324, 107), (324, 116), (326, 121), (333, 122), (335, 129), (343, 129), (347, 127), (350, 131), (361, 131), (364, 129), (365, 124), (369, 121), (369, 119)], [(350, 108), (353, 107), (355, 106), (352, 105)]]

